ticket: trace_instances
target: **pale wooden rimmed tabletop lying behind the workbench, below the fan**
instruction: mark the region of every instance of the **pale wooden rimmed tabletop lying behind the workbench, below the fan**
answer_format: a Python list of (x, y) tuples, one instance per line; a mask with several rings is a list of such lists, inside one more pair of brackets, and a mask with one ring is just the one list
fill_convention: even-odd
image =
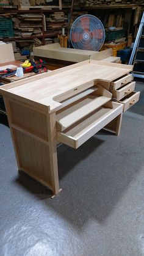
[(34, 56), (66, 60), (70, 62), (81, 62), (88, 59), (102, 60), (112, 56), (112, 49), (106, 49), (104, 51), (87, 51), (83, 49), (63, 48), (60, 47), (59, 43), (35, 47), (33, 48), (33, 52)]

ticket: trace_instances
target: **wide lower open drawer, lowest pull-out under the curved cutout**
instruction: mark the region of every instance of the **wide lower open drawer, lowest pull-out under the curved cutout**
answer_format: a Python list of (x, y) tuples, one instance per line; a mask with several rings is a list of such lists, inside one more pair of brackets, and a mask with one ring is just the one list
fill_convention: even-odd
[(107, 123), (123, 112), (123, 104), (109, 101), (65, 131), (57, 131), (57, 141), (78, 148)]

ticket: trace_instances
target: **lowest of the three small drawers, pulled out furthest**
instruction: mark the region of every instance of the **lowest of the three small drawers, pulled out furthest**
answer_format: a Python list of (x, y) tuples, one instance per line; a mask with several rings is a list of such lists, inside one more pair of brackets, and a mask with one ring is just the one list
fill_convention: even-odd
[(131, 92), (129, 95), (118, 101), (124, 104), (123, 112), (131, 108), (137, 101), (139, 101), (140, 92)]

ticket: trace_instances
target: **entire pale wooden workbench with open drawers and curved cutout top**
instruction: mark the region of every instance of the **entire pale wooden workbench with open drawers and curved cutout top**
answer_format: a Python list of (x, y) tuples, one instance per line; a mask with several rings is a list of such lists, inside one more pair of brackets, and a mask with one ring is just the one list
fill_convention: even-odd
[(139, 100), (131, 70), (86, 60), (2, 86), (18, 169), (56, 195), (57, 144), (78, 148), (102, 128), (118, 135), (123, 110)]

